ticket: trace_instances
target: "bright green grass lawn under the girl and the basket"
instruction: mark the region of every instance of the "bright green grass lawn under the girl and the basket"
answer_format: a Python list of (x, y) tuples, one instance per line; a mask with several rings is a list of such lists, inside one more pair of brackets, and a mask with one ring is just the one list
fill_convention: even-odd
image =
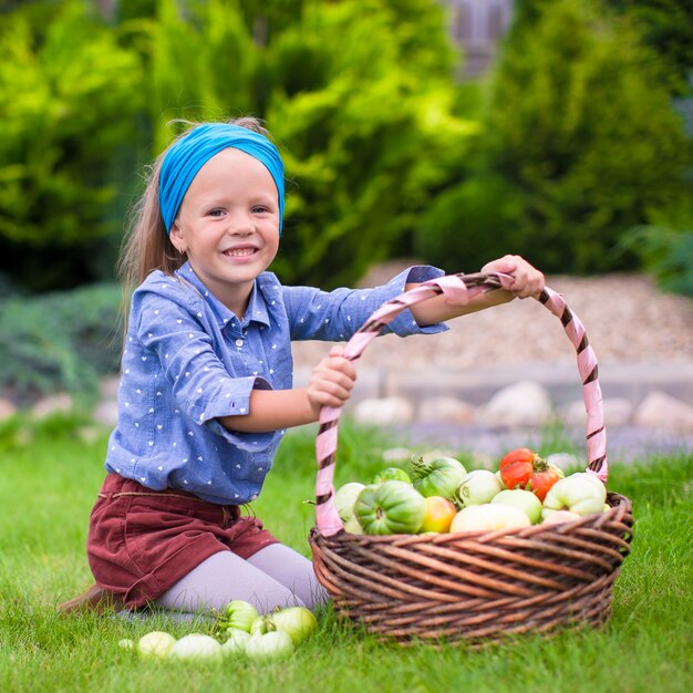
[[(313, 497), (312, 433), (287, 436), (255, 505), (280, 539), (307, 556), (314, 515), (306, 503)], [(384, 466), (383, 448), (401, 443), (342, 426), (338, 484), (368, 479)], [(231, 660), (218, 665), (142, 662), (118, 648), (118, 640), (155, 629), (182, 635), (193, 627), (159, 617), (132, 623), (56, 613), (58, 603), (91, 582), (84, 542), (103, 479), (104, 447), (103, 433), (84, 437), (70, 418), (0, 424), (2, 692), (693, 690), (692, 455), (631, 465), (612, 461), (610, 488), (633, 500), (637, 524), (632, 554), (616, 585), (613, 617), (601, 630), (521, 637), (483, 651), (403, 649), (380, 644), (328, 611), (318, 634), (290, 661), (258, 666)]]

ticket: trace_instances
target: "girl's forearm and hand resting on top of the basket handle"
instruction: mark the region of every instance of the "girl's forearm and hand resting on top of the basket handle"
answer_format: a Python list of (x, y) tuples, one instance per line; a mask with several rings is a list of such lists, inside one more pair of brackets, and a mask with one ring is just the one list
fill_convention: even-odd
[[(451, 306), (445, 302), (445, 297), (443, 296), (422, 301), (411, 308), (414, 320), (416, 320), (420, 327), (445, 322), (477, 310), (507, 303), (515, 298), (524, 299), (530, 296), (538, 296), (545, 286), (544, 275), (518, 255), (506, 255), (503, 258), (493, 260), (482, 268), (482, 272), (503, 272), (510, 275), (514, 281), (508, 290), (496, 289), (488, 293), (480, 293), (467, 306)], [(416, 286), (406, 285), (406, 290)]]

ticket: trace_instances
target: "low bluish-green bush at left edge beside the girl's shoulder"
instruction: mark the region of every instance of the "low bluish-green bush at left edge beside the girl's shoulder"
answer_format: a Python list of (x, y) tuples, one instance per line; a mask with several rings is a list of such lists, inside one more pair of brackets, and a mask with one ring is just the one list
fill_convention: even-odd
[(0, 302), (0, 387), (20, 399), (68, 391), (94, 396), (118, 370), (122, 293), (91, 286)]

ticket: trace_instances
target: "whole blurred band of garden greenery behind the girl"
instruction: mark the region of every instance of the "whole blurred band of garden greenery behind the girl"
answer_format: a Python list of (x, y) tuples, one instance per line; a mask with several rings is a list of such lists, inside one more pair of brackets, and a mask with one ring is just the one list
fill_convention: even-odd
[(0, 396), (117, 371), (176, 118), (266, 122), (285, 283), (513, 252), (693, 296), (692, 96), (690, 0), (0, 0)]

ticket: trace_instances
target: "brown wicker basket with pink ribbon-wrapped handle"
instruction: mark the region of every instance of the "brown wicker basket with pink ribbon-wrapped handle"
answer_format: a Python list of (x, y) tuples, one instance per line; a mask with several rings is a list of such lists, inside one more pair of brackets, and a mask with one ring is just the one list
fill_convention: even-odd
[[(504, 275), (454, 275), (387, 301), (350, 340), (358, 359), (400, 312), (443, 293), (464, 304), (507, 286)], [(606, 433), (597, 362), (585, 329), (562, 298), (538, 299), (562, 322), (578, 354), (588, 414), (588, 472), (607, 482)], [(610, 510), (560, 525), (493, 532), (366, 536), (344, 531), (333, 506), (340, 410), (324, 407), (317, 437), (317, 527), (310, 545), (318, 580), (335, 610), (384, 640), (474, 647), (514, 633), (599, 625), (611, 612), (613, 581), (629, 552), (631, 503), (607, 495)]]

